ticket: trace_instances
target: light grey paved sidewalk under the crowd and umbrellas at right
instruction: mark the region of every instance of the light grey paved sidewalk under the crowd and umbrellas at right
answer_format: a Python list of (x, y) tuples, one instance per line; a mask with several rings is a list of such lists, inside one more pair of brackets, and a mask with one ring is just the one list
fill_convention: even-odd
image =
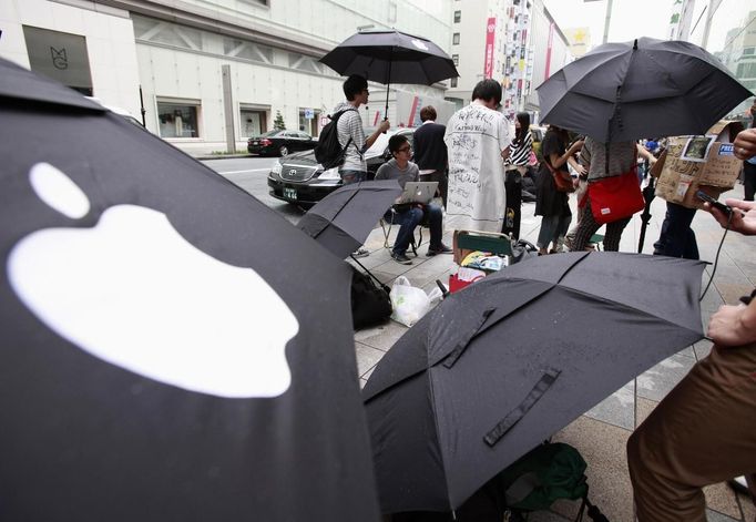
[[(743, 197), (743, 186), (727, 193), (731, 197)], [(724, 199), (724, 196), (721, 197)], [(574, 196), (571, 197), (574, 216)], [(541, 218), (533, 215), (533, 203), (522, 206), (521, 236), (535, 244)], [(652, 218), (646, 229), (644, 254), (653, 253), (653, 243), (658, 237), (664, 219), (665, 202), (655, 198)], [(391, 232), (390, 243), (396, 231)], [(696, 232), (701, 258), (714, 263), (724, 229), (707, 213), (697, 213), (693, 221)], [(445, 243), (451, 245), (451, 232), (445, 231)], [(601, 232), (601, 231), (600, 231)], [(625, 228), (621, 242), (621, 252), (637, 252), (641, 232), (641, 219), (636, 215)], [(426, 240), (427, 231), (423, 234)], [(370, 256), (359, 262), (370, 269), (381, 282), (391, 285), (397, 276), (406, 276), (413, 286), (426, 291), (436, 287), (436, 279), (448, 284), (450, 274), (457, 269), (451, 256), (425, 257), (427, 244), (418, 249), (418, 257), (412, 265), (400, 265), (384, 248), (384, 233), (380, 227), (372, 231), (366, 248)], [(745, 237), (728, 233), (725, 238), (714, 283), (702, 301), (702, 320), (706, 325), (708, 318), (722, 304), (735, 304), (743, 295), (748, 295), (756, 284), (756, 237)], [(558, 254), (556, 254), (558, 255)], [(709, 265), (703, 277), (705, 287), (712, 273)], [(389, 321), (382, 326), (365, 329), (355, 334), (357, 369), (360, 385), (364, 386), (381, 357), (407, 328), (398, 323)], [(607, 397), (601, 403), (578, 418), (571, 424), (554, 434), (553, 440), (568, 442), (580, 450), (588, 462), (588, 479), (591, 488), (591, 501), (596, 504), (612, 522), (631, 522), (633, 520), (633, 500), (625, 443), (634, 426), (645, 419), (662, 398), (685, 376), (699, 358), (711, 349), (708, 341), (701, 341), (682, 350), (680, 354), (662, 361), (637, 378), (637, 390), (631, 381)], [(637, 419), (634, 422), (634, 410), (637, 406)], [(713, 449), (715, 451), (716, 449)], [(727, 484), (715, 484), (706, 488), (708, 520), (716, 522), (756, 521), (756, 508), (743, 494), (736, 494)], [(552, 511), (535, 513), (529, 520), (535, 522), (562, 522), (574, 520), (578, 511), (576, 502), (556, 502)]]

